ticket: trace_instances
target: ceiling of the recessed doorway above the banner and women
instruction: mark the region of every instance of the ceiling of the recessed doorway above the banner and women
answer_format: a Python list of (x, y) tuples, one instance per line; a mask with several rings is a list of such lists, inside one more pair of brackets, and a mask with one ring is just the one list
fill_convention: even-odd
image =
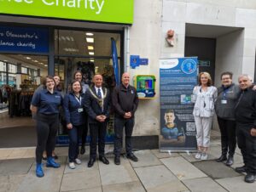
[(243, 28), (220, 26), (220, 25), (199, 25), (199, 24), (186, 24), (186, 37), (205, 37), (217, 38), (224, 36), (230, 32), (238, 31)]

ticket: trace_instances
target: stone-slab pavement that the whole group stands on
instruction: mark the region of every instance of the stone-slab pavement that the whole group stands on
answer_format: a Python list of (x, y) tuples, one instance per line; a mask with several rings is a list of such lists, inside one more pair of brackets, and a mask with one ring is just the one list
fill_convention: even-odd
[(116, 166), (113, 146), (107, 145), (109, 165), (96, 161), (88, 168), (87, 147), (85, 155), (80, 156), (82, 164), (72, 170), (67, 165), (67, 147), (57, 147), (61, 167), (48, 168), (44, 164), (44, 178), (35, 175), (34, 147), (0, 149), (0, 192), (255, 192), (256, 183), (245, 183), (244, 175), (234, 171), (242, 165), (240, 150), (236, 150), (232, 167), (214, 161), (220, 155), (218, 134), (212, 131), (207, 161), (197, 161), (195, 154), (189, 152), (139, 150), (135, 152), (139, 161), (122, 157), (121, 165)]

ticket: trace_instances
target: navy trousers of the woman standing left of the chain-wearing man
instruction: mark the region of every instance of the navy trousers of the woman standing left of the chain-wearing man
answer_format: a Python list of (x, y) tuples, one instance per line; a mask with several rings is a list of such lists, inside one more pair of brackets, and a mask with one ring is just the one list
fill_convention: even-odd
[(74, 126), (67, 129), (69, 138), (68, 158), (69, 162), (73, 162), (79, 156), (79, 138), (81, 138), (84, 125)]

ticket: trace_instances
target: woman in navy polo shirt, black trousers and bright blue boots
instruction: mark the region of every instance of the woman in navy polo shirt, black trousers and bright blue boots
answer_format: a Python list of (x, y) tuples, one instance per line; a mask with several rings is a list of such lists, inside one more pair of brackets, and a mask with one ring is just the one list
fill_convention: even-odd
[(55, 148), (56, 133), (59, 127), (59, 107), (62, 104), (62, 97), (61, 93), (55, 90), (55, 80), (52, 76), (46, 76), (43, 84), (44, 89), (34, 93), (31, 103), (32, 113), (37, 114), (36, 174), (39, 178), (44, 177), (42, 168), (44, 149), (47, 153), (46, 167), (61, 167), (52, 157), (52, 151)]

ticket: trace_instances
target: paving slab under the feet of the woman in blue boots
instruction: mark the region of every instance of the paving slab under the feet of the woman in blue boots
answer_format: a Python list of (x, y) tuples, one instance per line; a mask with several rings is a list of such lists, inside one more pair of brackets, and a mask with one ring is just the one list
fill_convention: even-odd
[(44, 164), (43, 178), (36, 176), (36, 163), (34, 163), (30, 171), (26, 174), (26, 178), (20, 184), (19, 189), (17, 189), (17, 192), (58, 192), (61, 186), (66, 159), (66, 157), (60, 157), (57, 160), (57, 162), (61, 163), (60, 168), (45, 167)]

